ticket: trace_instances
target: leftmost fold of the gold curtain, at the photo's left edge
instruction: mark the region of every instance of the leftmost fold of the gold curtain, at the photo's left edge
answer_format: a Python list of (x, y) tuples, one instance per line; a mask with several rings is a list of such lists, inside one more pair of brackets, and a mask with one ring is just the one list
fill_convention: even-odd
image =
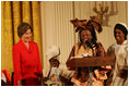
[(2, 27), (1, 27), (1, 70), (8, 70), (10, 73), (13, 71), (12, 65), (12, 12), (11, 2), (2, 2)]

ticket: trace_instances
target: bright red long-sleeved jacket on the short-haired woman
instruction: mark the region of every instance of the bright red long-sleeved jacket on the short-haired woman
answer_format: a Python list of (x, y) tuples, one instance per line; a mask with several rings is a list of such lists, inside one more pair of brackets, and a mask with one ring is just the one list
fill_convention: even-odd
[(17, 80), (37, 78), (43, 75), (36, 42), (30, 41), (30, 50), (22, 40), (13, 46), (13, 69), (14, 85), (17, 85)]

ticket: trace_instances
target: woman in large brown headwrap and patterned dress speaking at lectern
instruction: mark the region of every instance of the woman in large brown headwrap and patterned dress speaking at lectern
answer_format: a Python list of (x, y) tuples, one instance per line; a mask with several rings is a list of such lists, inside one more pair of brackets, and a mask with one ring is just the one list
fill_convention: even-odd
[[(102, 27), (101, 24), (96, 22), (97, 17), (91, 17), (89, 22), (85, 20), (72, 20), (74, 27), (77, 27), (75, 32), (79, 32), (80, 41), (75, 44), (72, 48), (72, 51), (69, 55), (68, 61), (71, 58), (82, 58), (83, 57), (105, 57), (105, 50), (101, 42), (97, 41), (95, 29), (101, 33)], [(68, 62), (67, 61), (67, 62)], [(75, 86), (90, 86), (90, 75), (89, 67), (78, 67), (71, 69), (74, 70), (74, 74), (71, 78), (71, 82), (74, 83)], [(107, 79), (107, 71), (105, 71), (106, 66), (95, 66), (92, 72), (92, 82), (93, 86), (103, 86), (104, 80)]]

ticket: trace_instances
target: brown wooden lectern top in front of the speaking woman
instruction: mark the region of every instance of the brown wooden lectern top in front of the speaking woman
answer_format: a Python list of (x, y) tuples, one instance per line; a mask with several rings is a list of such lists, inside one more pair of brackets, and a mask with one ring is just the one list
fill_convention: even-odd
[(115, 57), (75, 58), (67, 62), (69, 67), (114, 65)]

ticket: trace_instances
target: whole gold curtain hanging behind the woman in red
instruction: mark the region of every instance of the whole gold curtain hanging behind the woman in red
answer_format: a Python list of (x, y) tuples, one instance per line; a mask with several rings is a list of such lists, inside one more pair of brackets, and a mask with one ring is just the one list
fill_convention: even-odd
[(17, 26), (22, 22), (32, 25), (33, 40), (38, 45), (42, 60), (39, 14), (38, 1), (1, 1), (1, 70), (13, 72), (12, 47), (20, 40)]

